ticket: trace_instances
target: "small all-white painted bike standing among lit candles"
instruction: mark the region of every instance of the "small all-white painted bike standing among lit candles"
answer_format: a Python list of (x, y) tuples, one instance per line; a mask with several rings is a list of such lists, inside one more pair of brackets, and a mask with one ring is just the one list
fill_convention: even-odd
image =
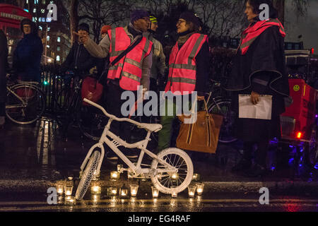
[[(86, 194), (90, 182), (97, 179), (100, 176), (100, 167), (102, 160), (105, 156), (105, 149), (103, 144), (108, 145), (114, 153), (118, 155), (128, 165), (128, 169), (120, 169), (119, 173), (127, 171), (132, 178), (151, 178), (153, 185), (158, 188), (163, 194), (172, 194), (172, 192), (182, 192), (187, 189), (192, 182), (193, 176), (193, 163), (189, 155), (183, 150), (178, 148), (168, 148), (162, 150), (158, 155), (153, 154), (150, 150), (147, 150), (148, 142), (151, 141), (151, 133), (157, 133), (163, 126), (160, 124), (141, 124), (131, 119), (119, 119), (114, 115), (108, 114), (106, 110), (90, 100), (84, 99), (88, 104), (93, 105), (100, 109), (107, 117), (109, 121), (105, 126), (99, 143), (93, 145), (90, 148), (88, 155), (86, 156), (83, 164), (81, 165), (80, 178), (81, 181), (78, 184), (76, 191), (76, 199), (81, 200)], [(140, 129), (148, 131), (146, 138), (143, 141), (137, 143), (126, 143), (119, 136), (116, 136), (110, 131), (110, 125), (112, 121), (128, 121), (131, 124), (135, 124)], [(131, 162), (119, 149), (119, 146), (124, 146), (128, 149), (138, 148), (141, 150), (138, 161)], [(149, 155), (153, 162), (151, 165), (143, 165), (143, 157)], [(143, 168), (146, 166), (146, 168)], [(172, 186), (174, 186), (172, 188)]]

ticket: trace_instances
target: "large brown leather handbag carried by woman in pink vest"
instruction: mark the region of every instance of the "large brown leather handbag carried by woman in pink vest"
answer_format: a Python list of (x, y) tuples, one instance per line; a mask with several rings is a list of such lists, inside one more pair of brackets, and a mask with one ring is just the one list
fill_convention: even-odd
[(201, 153), (216, 153), (223, 116), (209, 114), (206, 100), (204, 105), (205, 111), (197, 113), (197, 120), (193, 124), (184, 124), (184, 119), (189, 119), (190, 116), (179, 117), (182, 125), (177, 138), (177, 148)]

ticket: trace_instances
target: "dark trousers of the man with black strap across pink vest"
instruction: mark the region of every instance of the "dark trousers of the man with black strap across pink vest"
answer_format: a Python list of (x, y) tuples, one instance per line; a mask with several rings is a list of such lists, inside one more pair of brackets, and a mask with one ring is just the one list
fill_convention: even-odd
[[(120, 88), (117, 81), (110, 81), (107, 86), (107, 96), (106, 96), (106, 109), (109, 114), (113, 114), (118, 118), (125, 118), (122, 115), (122, 105), (126, 100), (121, 100), (122, 93), (124, 93), (122, 88)], [(136, 92), (134, 92), (136, 97)], [(110, 126), (110, 131), (116, 136), (122, 138), (126, 142), (131, 141), (131, 124), (126, 121), (112, 121)]]

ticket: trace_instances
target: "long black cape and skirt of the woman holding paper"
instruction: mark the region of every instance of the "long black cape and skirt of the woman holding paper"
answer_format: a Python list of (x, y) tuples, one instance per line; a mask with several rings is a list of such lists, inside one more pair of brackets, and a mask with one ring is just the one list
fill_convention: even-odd
[(232, 109), (239, 112), (238, 95), (272, 95), (272, 119), (236, 119), (235, 132), (242, 141), (261, 141), (281, 137), (280, 114), (285, 112), (283, 98), (289, 96), (288, 76), (285, 72), (284, 38), (279, 28), (266, 29), (249, 47), (240, 50), (233, 61), (233, 69), (226, 90), (233, 92)]

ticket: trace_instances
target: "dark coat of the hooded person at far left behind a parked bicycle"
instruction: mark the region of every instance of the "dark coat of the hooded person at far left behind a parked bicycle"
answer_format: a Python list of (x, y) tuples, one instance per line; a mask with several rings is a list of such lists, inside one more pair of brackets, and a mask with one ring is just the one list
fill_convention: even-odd
[(13, 69), (23, 81), (40, 82), (43, 45), (37, 32), (24, 35), (13, 53)]

